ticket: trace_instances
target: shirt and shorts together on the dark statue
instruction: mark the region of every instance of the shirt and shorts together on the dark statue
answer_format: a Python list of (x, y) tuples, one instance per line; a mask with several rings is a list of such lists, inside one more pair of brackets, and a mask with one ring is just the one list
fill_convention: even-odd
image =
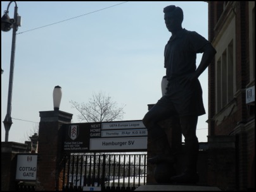
[(208, 40), (196, 32), (183, 29), (176, 37), (170, 37), (165, 45), (165, 68), (169, 81), (167, 92), (158, 100), (170, 112), (176, 111), (179, 116), (201, 116), (203, 107), (202, 87), (199, 80), (182, 83), (182, 77), (196, 70), (196, 54), (203, 52)]

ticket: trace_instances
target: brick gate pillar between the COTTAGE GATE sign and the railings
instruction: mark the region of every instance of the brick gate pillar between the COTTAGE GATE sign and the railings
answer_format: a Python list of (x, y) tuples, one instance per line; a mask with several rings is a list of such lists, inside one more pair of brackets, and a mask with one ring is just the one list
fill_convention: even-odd
[(58, 191), (61, 185), (62, 124), (71, 123), (73, 114), (41, 111), (39, 123), (36, 190)]

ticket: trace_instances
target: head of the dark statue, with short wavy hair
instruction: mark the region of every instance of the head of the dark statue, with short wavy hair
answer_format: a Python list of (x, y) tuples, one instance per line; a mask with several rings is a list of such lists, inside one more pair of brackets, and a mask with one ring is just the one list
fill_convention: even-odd
[(164, 19), (166, 27), (170, 32), (181, 28), (181, 23), (183, 21), (183, 11), (181, 8), (175, 5), (167, 6), (163, 9)]

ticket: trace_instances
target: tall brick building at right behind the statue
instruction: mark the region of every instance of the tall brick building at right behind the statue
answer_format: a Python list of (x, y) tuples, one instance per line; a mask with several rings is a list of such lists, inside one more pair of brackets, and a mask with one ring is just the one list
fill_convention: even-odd
[[(225, 176), (233, 177), (232, 189), (252, 189), (255, 188), (255, 2), (208, 1), (208, 37), (217, 51), (208, 68), (208, 135), (234, 138), (232, 157), (222, 156), (226, 158), (222, 163), (226, 164), (232, 164), (234, 158), (233, 168), (229, 167)], [(219, 168), (218, 164), (212, 166)], [(217, 177), (220, 173), (215, 174)], [(223, 185), (218, 179), (212, 184)]]

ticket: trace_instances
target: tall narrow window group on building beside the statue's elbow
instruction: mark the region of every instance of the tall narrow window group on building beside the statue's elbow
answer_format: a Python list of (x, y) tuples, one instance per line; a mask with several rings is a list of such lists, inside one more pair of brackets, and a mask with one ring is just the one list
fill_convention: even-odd
[(234, 98), (234, 45), (229, 42), (217, 60), (217, 112)]

